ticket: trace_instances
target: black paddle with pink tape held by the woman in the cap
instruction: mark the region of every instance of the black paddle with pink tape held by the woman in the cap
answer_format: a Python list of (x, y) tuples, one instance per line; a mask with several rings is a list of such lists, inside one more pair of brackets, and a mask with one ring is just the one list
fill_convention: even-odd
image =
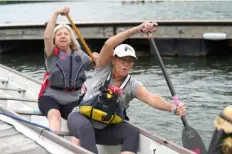
[[(152, 38), (152, 34), (148, 33), (148, 40), (150, 42), (150, 45), (152, 47), (151, 53), (153, 55), (156, 55), (159, 59), (160, 62), (160, 67), (162, 69), (162, 72), (164, 74), (165, 80), (168, 84), (168, 87), (170, 89), (170, 92), (172, 94), (173, 97), (173, 101), (175, 104), (179, 104), (179, 99), (178, 96), (176, 95), (176, 92), (172, 86), (171, 80), (168, 76), (168, 73), (165, 69), (163, 60), (159, 54), (159, 51), (157, 49), (157, 46), (155, 44), (155, 41)], [(185, 118), (185, 116), (181, 117), (182, 123), (184, 125), (184, 129), (182, 131), (182, 142), (183, 142), (183, 146), (189, 150), (194, 151), (197, 154), (207, 154), (206, 148), (204, 146), (204, 143), (200, 137), (200, 135), (198, 134), (198, 132), (193, 129), (192, 127), (190, 127), (187, 123), (187, 120)]]

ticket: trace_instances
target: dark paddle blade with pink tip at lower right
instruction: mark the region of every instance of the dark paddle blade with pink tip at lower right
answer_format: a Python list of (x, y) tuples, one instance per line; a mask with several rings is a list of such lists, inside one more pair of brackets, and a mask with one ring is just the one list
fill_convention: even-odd
[(190, 126), (186, 126), (182, 132), (183, 146), (196, 154), (207, 154), (205, 145), (198, 132)]

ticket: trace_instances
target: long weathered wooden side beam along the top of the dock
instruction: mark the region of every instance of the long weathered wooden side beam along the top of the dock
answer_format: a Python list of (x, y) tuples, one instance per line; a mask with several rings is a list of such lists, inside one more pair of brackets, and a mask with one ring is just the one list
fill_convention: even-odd
[[(143, 21), (75, 22), (85, 39), (107, 39), (110, 36), (136, 26)], [(154, 32), (155, 38), (203, 38), (204, 33), (225, 33), (232, 39), (232, 20), (163, 20)], [(69, 24), (69, 23), (67, 23)], [(43, 40), (46, 23), (0, 24), (0, 40)], [(131, 38), (144, 39), (145, 34)]]

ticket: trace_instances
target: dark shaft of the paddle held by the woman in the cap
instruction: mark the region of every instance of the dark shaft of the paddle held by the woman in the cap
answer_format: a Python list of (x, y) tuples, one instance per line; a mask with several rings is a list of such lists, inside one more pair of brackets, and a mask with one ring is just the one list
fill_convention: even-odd
[[(156, 46), (156, 44), (155, 44), (155, 41), (153, 40), (152, 37), (148, 38), (148, 40), (149, 40), (149, 42), (150, 42), (150, 44), (151, 44), (151, 46), (152, 46), (152, 48), (153, 48), (153, 50), (152, 50), (151, 52), (155, 51), (155, 54), (157, 55), (157, 57), (158, 57), (158, 59), (159, 59), (160, 66), (161, 66), (162, 72), (163, 72), (163, 74), (164, 74), (165, 80), (166, 80), (166, 82), (167, 82), (167, 84), (168, 84), (169, 90), (170, 90), (172, 96), (176, 96), (176, 92), (175, 92), (175, 90), (174, 90), (174, 88), (173, 88), (172, 82), (171, 82), (171, 80), (170, 80), (170, 78), (169, 78), (169, 76), (168, 76), (168, 73), (167, 73), (166, 69), (165, 69), (163, 60), (162, 60), (162, 58), (161, 58), (161, 56), (160, 56), (160, 54), (159, 54), (159, 50), (158, 50), (158, 48), (157, 48), (157, 46)], [(179, 102), (179, 100), (177, 100), (177, 102)], [(178, 104), (177, 104), (177, 105), (178, 105)], [(187, 127), (187, 126), (188, 126), (188, 123), (187, 123), (186, 118), (185, 118), (184, 116), (182, 116), (182, 117), (181, 117), (181, 120), (182, 120), (182, 123), (183, 123), (184, 127)]]

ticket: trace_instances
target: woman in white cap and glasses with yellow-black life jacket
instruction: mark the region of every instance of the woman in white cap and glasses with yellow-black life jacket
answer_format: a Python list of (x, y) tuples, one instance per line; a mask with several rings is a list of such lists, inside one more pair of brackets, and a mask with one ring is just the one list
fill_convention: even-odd
[(133, 98), (159, 110), (185, 115), (184, 104), (176, 106), (166, 102), (129, 75), (137, 57), (130, 45), (121, 43), (141, 31), (153, 31), (156, 25), (144, 22), (105, 42), (93, 77), (87, 84), (87, 93), (68, 117), (69, 131), (80, 139), (83, 148), (98, 153), (96, 144), (122, 144), (121, 154), (136, 153), (139, 131), (124, 122), (127, 120), (125, 110)]

